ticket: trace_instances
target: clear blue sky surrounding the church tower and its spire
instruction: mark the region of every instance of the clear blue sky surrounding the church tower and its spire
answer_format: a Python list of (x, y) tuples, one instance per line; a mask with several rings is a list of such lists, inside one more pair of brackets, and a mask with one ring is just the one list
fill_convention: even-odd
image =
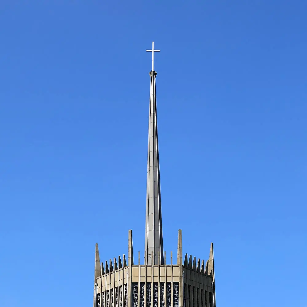
[[(2, 0), (0, 306), (92, 306), (143, 256), (155, 41), (164, 248), (217, 307), (306, 307), (306, 1)], [(169, 261), (169, 260), (168, 260)]]

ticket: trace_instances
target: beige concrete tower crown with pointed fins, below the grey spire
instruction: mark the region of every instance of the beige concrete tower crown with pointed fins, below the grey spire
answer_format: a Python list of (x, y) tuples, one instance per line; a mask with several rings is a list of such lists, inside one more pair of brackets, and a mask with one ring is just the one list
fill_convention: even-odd
[[(181, 230), (178, 231), (176, 263), (171, 253), (170, 264), (138, 264), (133, 261), (132, 231), (129, 230), (128, 264), (125, 255), (99, 263), (96, 245), (93, 307), (215, 307), (213, 246), (204, 266), (200, 259), (185, 255), (182, 264)], [(153, 255), (150, 255), (153, 256)], [(160, 256), (160, 255), (159, 255)], [(97, 258), (98, 257), (98, 258)], [(160, 258), (160, 257), (159, 257)], [(144, 257), (146, 260), (146, 256)]]

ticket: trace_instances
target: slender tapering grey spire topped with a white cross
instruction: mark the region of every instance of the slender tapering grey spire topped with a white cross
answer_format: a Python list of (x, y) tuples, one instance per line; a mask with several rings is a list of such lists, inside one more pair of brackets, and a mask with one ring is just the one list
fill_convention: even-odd
[[(146, 50), (147, 51), (147, 50)], [(154, 51), (160, 50), (148, 50)], [(148, 127), (148, 160), (147, 160), (147, 193), (146, 193), (146, 227), (145, 257), (146, 264), (158, 264), (163, 261), (160, 171), (157, 129), (156, 76), (150, 73), (149, 127)], [(153, 257), (151, 256), (153, 254)], [(153, 259), (152, 259), (153, 258)]]

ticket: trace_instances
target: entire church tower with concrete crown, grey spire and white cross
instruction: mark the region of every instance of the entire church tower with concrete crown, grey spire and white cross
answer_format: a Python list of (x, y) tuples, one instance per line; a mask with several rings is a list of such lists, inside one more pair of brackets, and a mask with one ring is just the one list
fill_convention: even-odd
[(177, 259), (163, 250), (159, 150), (157, 129), (156, 76), (150, 75), (145, 255), (134, 261), (132, 230), (128, 231), (128, 263), (122, 258), (101, 262), (95, 247), (93, 307), (216, 307), (213, 244), (204, 262), (185, 254), (182, 258), (181, 229), (178, 231)]

